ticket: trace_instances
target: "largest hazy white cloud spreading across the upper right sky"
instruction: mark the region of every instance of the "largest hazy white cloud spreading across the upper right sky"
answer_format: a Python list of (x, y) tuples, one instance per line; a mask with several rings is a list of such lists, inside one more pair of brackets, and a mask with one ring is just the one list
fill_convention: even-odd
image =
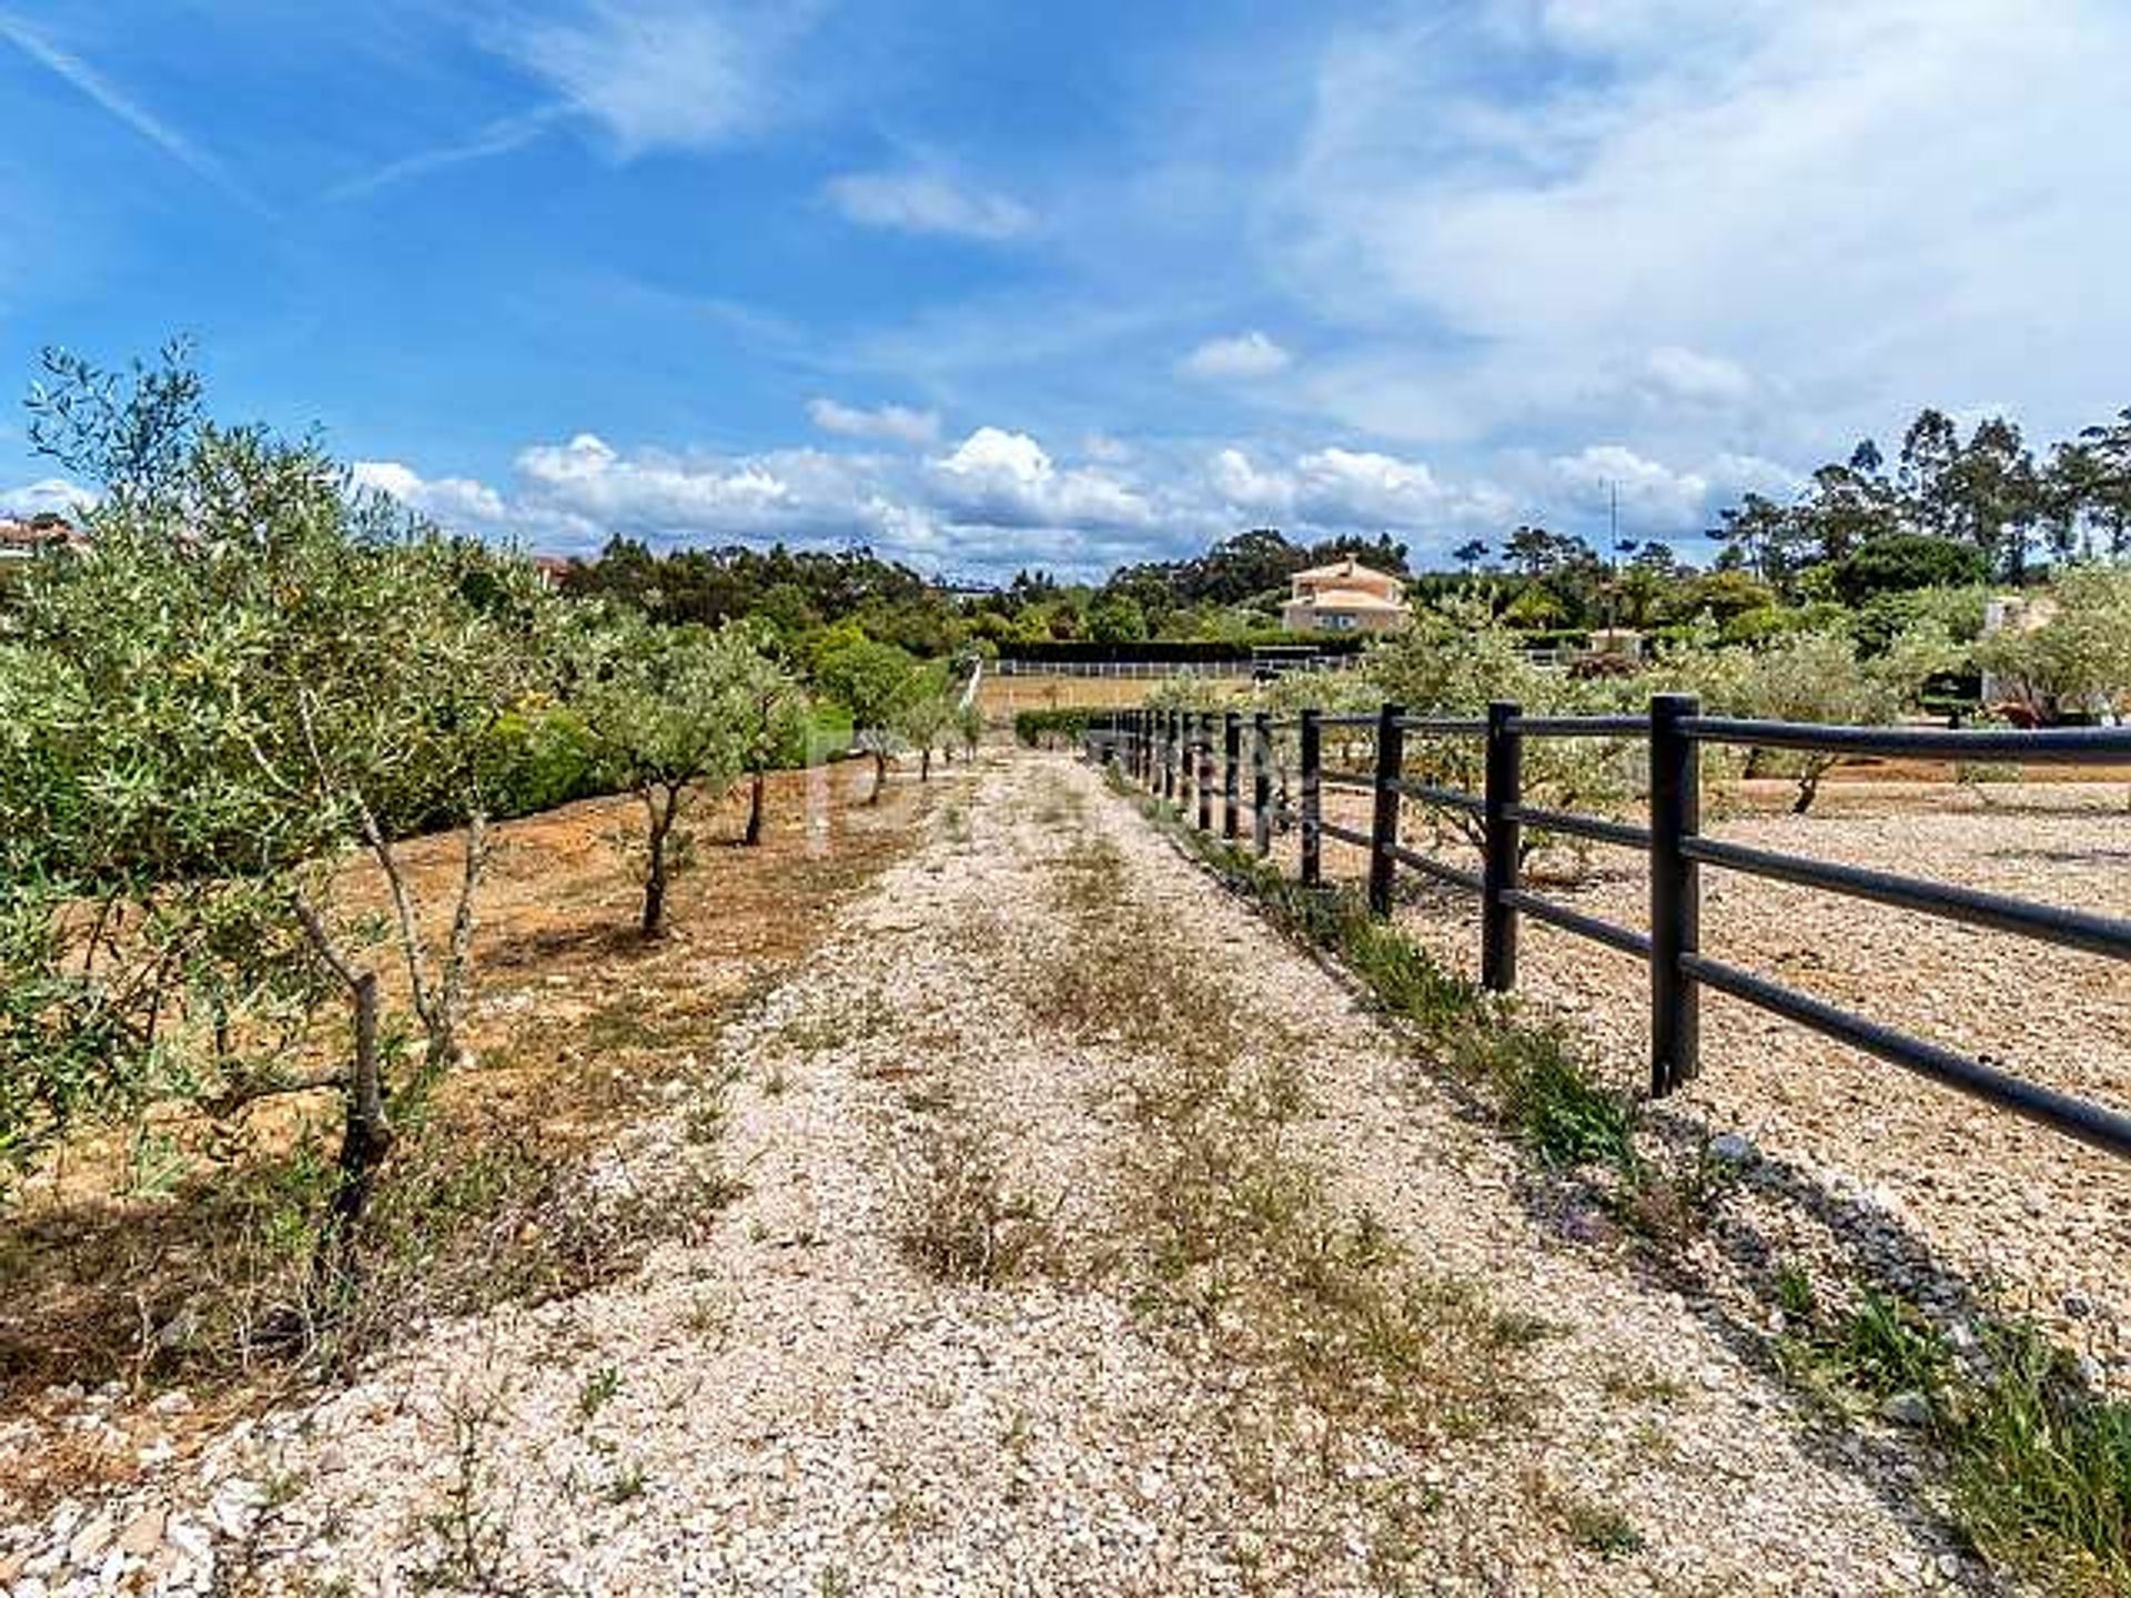
[(1370, 332), (1308, 403), (1385, 437), (1632, 411), (1645, 454), (1822, 458), (1986, 396), (2069, 428), (2120, 403), (2131, 213), (2091, 196), (2131, 190), (2127, 102), (2114, 0), (1500, 0), (1328, 49), (1259, 232)]

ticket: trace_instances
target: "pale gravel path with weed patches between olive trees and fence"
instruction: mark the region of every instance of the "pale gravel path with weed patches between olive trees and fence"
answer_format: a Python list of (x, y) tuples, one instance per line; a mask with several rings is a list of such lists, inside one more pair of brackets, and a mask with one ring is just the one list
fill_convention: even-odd
[(616, 1148), (624, 1193), (718, 1165), (707, 1227), (232, 1436), (87, 1568), (175, 1504), (239, 1592), (1978, 1581), (1899, 1457), (1547, 1232), (1507, 1144), (1091, 771), (963, 782), (727, 1029), (722, 1106)]

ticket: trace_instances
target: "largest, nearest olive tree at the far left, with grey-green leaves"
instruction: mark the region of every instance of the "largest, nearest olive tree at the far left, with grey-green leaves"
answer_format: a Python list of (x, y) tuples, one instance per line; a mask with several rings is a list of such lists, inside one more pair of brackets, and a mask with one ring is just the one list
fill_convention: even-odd
[[(21, 586), (0, 658), (0, 1151), (185, 1097), (345, 1106), (332, 1234), (392, 1142), (401, 1093), (458, 1055), (486, 863), (494, 720), (541, 669), (520, 562), (356, 494), (313, 443), (198, 415), (196, 384), (128, 392), (47, 362), (34, 437), (104, 477), (90, 554)], [(441, 961), (398, 839), (460, 831)], [(352, 893), (379, 869), (390, 914)], [(403, 965), (424, 1067), (390, 1082), (379, 965)], [(311, 1023), (345, 1004), (345, 1055)]]

